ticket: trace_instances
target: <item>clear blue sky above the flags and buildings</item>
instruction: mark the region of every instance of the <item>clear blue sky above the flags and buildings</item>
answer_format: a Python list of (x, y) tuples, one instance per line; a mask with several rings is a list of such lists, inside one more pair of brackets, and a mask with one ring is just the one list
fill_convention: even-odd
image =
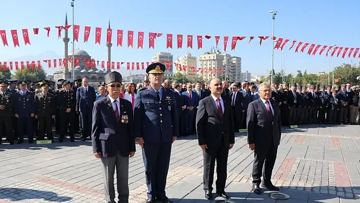
[[(0, 61), (12, 59), (23, 55), (37, 55), (47, 50), (63, 55), (63, 41), (57, 39), (56, 25), (63, 25), (65, 13), (68, 12), (69, 23), (72, 22), (72, 9), (70, 0), (16, 0), (2, 1), (0, 12), (0, 30), (7, 30), (9, 47), (0, 43)], [(106, 61), (106, 30), (108, 20), (111, 27), (116, 29), (133, 30), (135, 36), (138, 31), (145, 32), (144, 49), (137, 49), (137, 37), (134, 40), (135, 48), (127, 48), (127, 39), (123, 47), (116, 47), (116, 38), (113, 34), (112, 61), (122, 62), (147, 62), (151, 56), (159, 51), (167, 51), (166, 34), (192, 34), (211, 35), (211, 40), (204, 40), (203, 49), (170, 49), (174, 59), (178, 55), (190, 52), (193, 55), (202, 54), (215, 45), (215, 35), (219, 36), (255, 36), (248, 44), (249, 38), (238, 41), (236, 49), (227, 53), (241, 56), (243, 72), (249, 71), (252, 75), (265, 74), (271, 69), (271, 41), (258, 44), (257, 36), (272, 35), (272, 15), (269, 10), (277, 10), (275, 21), (275, 36), (290, 40), (297, 40), (321, 45), (337, 44), (343, 47), (360, 47), (358, 41), (358, 0), (302, 0), (302, 1), (240, 1), (240, 0), (75, 0), (75, 24), (81, 25), (79, 43), (75, 47), (86, 50), (97, 60)], [(92, 26), (92, 33), (87, 43), (83, 43), (84, 25)], [(50, 38), (46, 37), (44, 26), (51, 26)], [(102, 44), (95, 45), (95, 27), (103, 27)], [(40, 27), (40, 34), (34, 36), (32, 28)], [(17, 29), (21, 36), (21, 28), (28, 28), (32, 45), (24, 46), (20, 37), (20, 48), (14, 48), (10, 36), (11, 29)], [(71, 28), (72, 29), (72, 28)], [(72, 31), (72, 30), (71, 30)], [(115, 31), (116, 32), (116, 31)], [(115, 33), (113, 32), (113, 33)], [(158, 32), (164, 35), (156, 40), (155, 49), (148, 49), (148, 32)], [(71, 32), (69, 32), (71, 37)], [(62, 34), (62, 37), (64, 33)], [(126, 36), (126, 35), (125, 35)], [(219, 44), (222, 46), (223, 40)], [(291, 41), (285, 46), (286, 72), (296, 73), (296, 70), (319, 72), (328, 69), (328, 59), (324, 56), (309, 56), (306, 53), (294, 53), (294, 48), (289, 51)], [(176, 46), (176, 41), (173, 42)], [(71, 50), (71, 46), (69, 46)], [(34, 59), (43, 60), (43, 59)], [(280, 70), (281, 52), (275, 51), (274, 69)], [(358, 62), (358, 59), (335, 58), (334, 63)], [(126, 68), (121, 71), (128, 74)], [(135, 72), (141, 73), (141, 72)]]

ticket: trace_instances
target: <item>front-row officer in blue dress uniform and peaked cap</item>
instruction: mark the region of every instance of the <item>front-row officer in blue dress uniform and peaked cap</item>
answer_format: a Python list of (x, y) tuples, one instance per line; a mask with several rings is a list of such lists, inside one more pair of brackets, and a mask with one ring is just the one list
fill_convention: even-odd
[(148, 189), (146, 203), (171, 202), (165, 186), (171, 145), (179, 128), (174, 92), (161, 86), (164, 71), (160, 63), (146, 68), (150, 85), (138, 91), (134, 103), (134, 131), (142, 147)]

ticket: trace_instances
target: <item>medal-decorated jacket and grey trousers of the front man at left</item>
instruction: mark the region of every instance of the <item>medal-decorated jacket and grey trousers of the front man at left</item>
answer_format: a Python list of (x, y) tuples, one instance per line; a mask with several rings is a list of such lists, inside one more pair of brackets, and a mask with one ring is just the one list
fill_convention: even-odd
[[(129, 199), (129, 154), (135, 152), (133, 109), (131, 103), (119, 98), (119, 117), (116, 116), (109, 96), (94, 103), (92, 142), (93, 153), (101, 152), (105, 199), (114, 202), (114, 173), (116, 168), (119, 202)], [(125, 119), (125, 120), (124, 120)], [(128, 122), (124, 122), (124, 121)]]

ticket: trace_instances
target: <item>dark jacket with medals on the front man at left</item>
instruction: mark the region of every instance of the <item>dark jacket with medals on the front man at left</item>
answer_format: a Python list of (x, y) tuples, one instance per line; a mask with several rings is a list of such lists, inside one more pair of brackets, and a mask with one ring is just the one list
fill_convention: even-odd
[[(117, 151), (123, 157), (135, 152), (134, 119), (131, 102), (120, 98), (119, 115), (116, 121), (114, 109), (109, 97), (94, 103), (92, 142), (93, 152), (101, 152), (103, 157), (113, 157)], [(123, 123), (123, 118), (128, 123)]]

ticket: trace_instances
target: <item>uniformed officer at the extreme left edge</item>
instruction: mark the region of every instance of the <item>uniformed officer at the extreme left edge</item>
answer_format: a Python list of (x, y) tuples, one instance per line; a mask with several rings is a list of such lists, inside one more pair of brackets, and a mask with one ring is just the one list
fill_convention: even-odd
[(7, 91), (7, 87), (6, 81), (0, 81), (0, 144), (5, 134), (9, 143), (14, 144), (14, 97)]

